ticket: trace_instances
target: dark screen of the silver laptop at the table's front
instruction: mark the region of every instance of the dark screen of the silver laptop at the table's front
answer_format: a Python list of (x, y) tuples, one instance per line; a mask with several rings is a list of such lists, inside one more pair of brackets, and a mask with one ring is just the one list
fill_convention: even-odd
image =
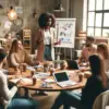
[(55, 73), (55, 77), (56, 77), (57, 82), (69, 81), (69, 77), (66, 75), (66, 72)]

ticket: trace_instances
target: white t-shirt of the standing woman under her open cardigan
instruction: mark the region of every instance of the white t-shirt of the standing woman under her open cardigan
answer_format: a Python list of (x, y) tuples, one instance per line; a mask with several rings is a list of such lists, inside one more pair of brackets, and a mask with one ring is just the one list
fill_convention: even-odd
[(51, 34), (49, 29), (44, 32), (44, 45), (51, 45)]

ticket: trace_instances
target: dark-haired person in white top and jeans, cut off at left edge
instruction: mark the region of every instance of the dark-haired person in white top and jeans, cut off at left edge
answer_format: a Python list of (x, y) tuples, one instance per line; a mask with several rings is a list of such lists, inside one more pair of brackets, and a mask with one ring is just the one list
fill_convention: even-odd
[(38, 102), (33, 99), (13, 98), (17, 92), (17, 87), (8, 87), (7, 76), (2, 72), (2, 64), (7, 60), (7, 53), (0, 49), (0, 109), (38, 109)]

